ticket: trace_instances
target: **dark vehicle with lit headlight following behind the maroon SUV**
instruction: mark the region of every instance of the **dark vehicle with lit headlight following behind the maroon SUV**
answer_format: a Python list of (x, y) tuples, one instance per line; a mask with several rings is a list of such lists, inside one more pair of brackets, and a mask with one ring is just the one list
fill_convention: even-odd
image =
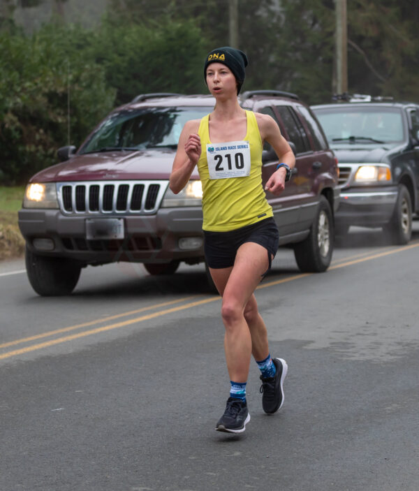
[(311, 107), (339, 160), (336, 231), (382, 227), (392, 242), (406, 244), (419, 212), (419, 105), (350, 100)]

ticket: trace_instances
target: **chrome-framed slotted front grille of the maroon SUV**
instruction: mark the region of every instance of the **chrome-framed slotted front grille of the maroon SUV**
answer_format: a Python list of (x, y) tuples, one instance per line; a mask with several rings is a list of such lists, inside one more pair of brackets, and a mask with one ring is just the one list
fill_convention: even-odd
[(168, 181), (59, 182), (64, 214), (154, 214)]

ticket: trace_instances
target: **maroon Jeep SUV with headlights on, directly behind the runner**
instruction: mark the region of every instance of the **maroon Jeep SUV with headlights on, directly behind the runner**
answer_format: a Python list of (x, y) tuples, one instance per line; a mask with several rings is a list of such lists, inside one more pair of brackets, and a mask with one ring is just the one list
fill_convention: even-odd
[[(240, 103), (274, 117), (295, 151), (295, 174), (284, 193), (267, 193), (280, 244), (293, 245), (302, 271), (326, 270), (338, 170), (316, 117), (284, 92), (245, 92)], [(213, 106), (212, 96), (143, 94), (112, 111), (77, 152), (59, 149), (62, 162), (30, 179), (19, 225), (38, 294), (71, 293), (87, 265), (136, 261), (150, 274), (172, 274), (181, 261), (205, 261), (198, 172), (177, 195), (168, 179), (184, 123)], [(263, 162), (265, 182), (277, 163), (269, 147)]]

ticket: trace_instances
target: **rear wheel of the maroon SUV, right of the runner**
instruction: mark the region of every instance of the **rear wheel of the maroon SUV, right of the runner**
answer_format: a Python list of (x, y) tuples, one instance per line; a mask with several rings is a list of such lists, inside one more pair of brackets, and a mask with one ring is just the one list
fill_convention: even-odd
[(295, 261), (302, 272), (328, 269), (333, 252), (333, 216), (328, 200), (320, 197), (316, 218), (306, 239), (294, 246)]

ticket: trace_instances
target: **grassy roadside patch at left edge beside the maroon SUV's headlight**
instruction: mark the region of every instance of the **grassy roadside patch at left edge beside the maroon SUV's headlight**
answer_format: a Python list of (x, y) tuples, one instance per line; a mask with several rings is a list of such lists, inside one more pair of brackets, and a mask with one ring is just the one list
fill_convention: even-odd
[(0, 186), (0, 261), (21, 257), (24, 253), (24, 239), (17, 226), (23, 194), (24, 186)]

